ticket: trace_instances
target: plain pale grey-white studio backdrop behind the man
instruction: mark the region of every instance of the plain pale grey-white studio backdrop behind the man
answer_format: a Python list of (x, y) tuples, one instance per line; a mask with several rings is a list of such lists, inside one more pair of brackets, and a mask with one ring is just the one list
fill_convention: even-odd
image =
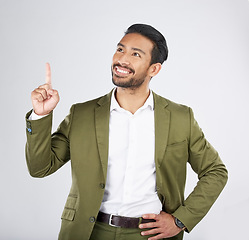
[[(61, 96), (55, 130), (73, 103), (111, 90), (112, 55), (133, 23), (168, 42), (151, 88), (193, 108), (229, 170), (220, 198), (184, 239), (249, 239), (248, 0), (0, 0), (1, 240), (57, 239), (71, 184), (70, 164), (34, 179), (25, 163), (24, 115), (45, 63)], [(189, 169), (186, 194), (196, 180)]]

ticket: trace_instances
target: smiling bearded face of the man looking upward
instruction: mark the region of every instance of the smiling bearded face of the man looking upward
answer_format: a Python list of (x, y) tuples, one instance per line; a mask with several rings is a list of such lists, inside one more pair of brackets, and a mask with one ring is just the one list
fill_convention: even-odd
[(149, 83), (153, 43), (146, 37), (129, 33), (117, 45), (112, 61), (112, 81), (122, 88), (139, 88)]

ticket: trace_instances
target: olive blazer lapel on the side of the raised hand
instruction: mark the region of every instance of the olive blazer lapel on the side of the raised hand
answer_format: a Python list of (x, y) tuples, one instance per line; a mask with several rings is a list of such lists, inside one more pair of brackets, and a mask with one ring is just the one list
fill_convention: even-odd
[(106, 180), (108, 166), (108, 149), (109, 149), (109, 119), (110, 119), (110, 102), (111, 94), (100, 98), (95, 108), (95, 127), (97, 136), (97, 145), (99, 156), (103, 168), (104, 178)]

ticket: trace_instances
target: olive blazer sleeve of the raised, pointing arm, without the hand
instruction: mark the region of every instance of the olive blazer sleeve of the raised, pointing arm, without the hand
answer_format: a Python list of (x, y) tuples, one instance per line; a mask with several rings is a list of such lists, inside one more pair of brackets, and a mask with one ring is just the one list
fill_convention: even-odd
[(29, 120), (31, 111), (27, 113), (25, 153), (32, 177), (48, 176), (70, 160), (69, 134), (73, 109), (72, 106), (69, 115), (52, 135), (52, 113), (39, 120)]

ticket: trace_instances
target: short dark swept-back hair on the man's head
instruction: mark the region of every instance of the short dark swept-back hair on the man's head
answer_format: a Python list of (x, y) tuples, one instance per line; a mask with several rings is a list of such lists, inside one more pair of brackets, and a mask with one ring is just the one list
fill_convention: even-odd
[(167, 60), (167, 43), (164, 36), (158, 30), (147, 24), (133, 24), (126, 30), (125, 35), (129, 33), (139, 33), (154, 43), (154, 47), (151, 52), (150, 64), (163, 64), (163, 62)]

